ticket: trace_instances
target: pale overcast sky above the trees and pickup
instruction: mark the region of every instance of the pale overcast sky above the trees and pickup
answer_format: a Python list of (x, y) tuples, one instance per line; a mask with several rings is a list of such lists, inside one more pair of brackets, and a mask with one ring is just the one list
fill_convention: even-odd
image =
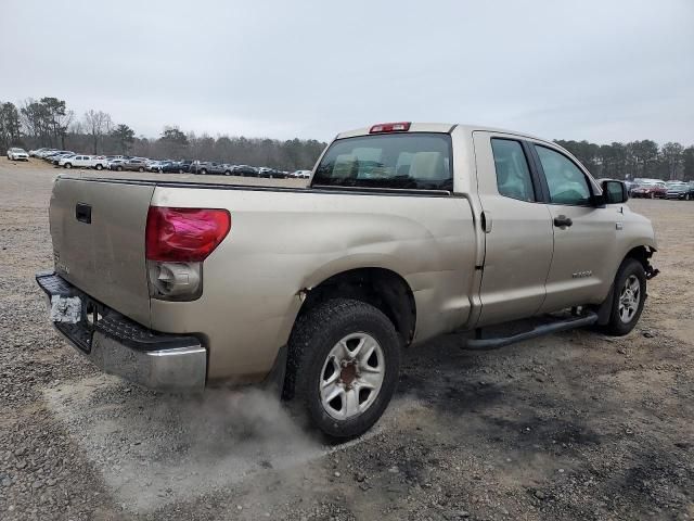
[(56, 97), (139, 136), (413, 120), (694, 144), (694, 0), (1, 3), (0, 101)]

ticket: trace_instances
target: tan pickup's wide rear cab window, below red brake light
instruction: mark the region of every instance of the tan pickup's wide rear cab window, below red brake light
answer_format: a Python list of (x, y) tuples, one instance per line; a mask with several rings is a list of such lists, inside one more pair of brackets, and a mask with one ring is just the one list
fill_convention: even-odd
[(447, 134), (388, 134), (334, 141), (313, 186), (453, 190)]

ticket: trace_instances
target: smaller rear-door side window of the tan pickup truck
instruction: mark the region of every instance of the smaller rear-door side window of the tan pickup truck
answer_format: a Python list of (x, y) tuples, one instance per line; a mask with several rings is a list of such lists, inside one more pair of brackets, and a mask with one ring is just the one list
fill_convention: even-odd
[(535, 201), (530, 168), (520, 142), (493, 138), (491, 150), (494, 154), (499, 193), (520, 201)]

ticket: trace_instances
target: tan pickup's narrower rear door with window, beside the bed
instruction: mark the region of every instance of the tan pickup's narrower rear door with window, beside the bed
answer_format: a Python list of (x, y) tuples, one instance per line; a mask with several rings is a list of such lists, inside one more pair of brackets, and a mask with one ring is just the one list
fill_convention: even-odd
[(544, 301), (553, 232), (529, 145), (518, 137), (473, 132), (485, 215), (478, 326), (535, 315)]

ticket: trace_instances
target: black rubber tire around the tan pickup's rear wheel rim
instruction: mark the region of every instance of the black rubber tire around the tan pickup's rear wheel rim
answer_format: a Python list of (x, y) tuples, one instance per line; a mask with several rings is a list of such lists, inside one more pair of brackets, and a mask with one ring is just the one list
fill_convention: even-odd
[[(319, 382), (331, 351), (349, 334), (365, 333), (380, 345), (384, 377), (370, 406), (344, 420), (329, 415), (321, 403)], [(330, 439), (348, 440), (367, 432), (381, 418), (393, 397), (400, 370), (400, 342), (393, 322), (381, 310), (361, 301), (325, 301), (300, 316), (288, 343), (283, 397), (308, 415), (310, 422)], [(338, 382), (342, 382), (342, 372)], [(360, 378), (360, 377), (358, 377)], [(361, 391), (358, 401), (361, 402)], [(342, 398), (340, 398), (342, 399)]]

